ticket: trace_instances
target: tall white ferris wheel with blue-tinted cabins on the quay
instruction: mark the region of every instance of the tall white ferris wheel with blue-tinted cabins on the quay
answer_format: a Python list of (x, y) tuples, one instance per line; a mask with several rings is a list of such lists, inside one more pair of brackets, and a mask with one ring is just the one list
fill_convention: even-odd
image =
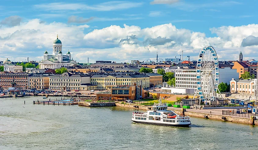
[[(199, 53), (197, 66), (197, 91), (202, 102), (206, 100), (217, 101), (221, 96), (219, 85), (219, 61), (215, 49), (212, 46), (203, 47)], [(217, 91), (219, 93), (217, 93)], [(222, 98), (222, 96), (221, 96)]]

